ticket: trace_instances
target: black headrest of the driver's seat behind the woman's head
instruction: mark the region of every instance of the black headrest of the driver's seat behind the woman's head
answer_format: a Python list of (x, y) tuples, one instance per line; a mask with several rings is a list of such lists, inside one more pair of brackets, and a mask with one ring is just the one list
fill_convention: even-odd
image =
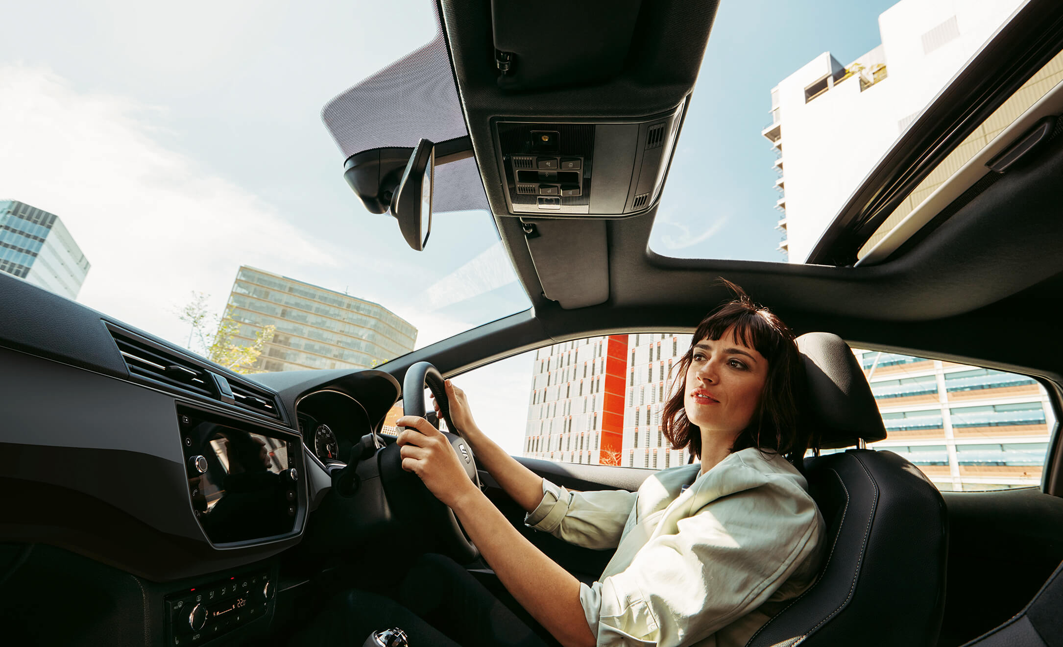
[(810, 424), (820, 447), (838, 449), (885, 438), (875, 396), (849, 345), (829, 332), (797, 337), (810, 396)]

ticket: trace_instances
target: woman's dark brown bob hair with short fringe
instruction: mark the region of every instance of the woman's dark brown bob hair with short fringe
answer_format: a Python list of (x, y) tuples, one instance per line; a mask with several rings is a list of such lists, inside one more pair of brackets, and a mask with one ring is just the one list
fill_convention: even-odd
[(684, 405), (687, 391), (687, 369), (694, 354), (694, 345), (704, 339), (718, 341), (728, 330), (737, 343), (754, 348), (767, 360), (767, 379), (754, 410), (749, 426), (742, 430), (731, 451), (757, 447), (761, 451), (780, 453), (798, 469), (803, 468), (806, 451), (817, 449), (805, 424), (802, 403), (805, 402), (805, 367), (794, 334), (772, 311), (754, 303), (738, 285), (720, 279), (735, 298), (709, 313), (694, 332), (687, 353), (676, 366), (668, 403), (661, 412), (661, 431), (672, 449), (688, 449), (691, 460), (702, 455), (701, 429), (690, 424)]

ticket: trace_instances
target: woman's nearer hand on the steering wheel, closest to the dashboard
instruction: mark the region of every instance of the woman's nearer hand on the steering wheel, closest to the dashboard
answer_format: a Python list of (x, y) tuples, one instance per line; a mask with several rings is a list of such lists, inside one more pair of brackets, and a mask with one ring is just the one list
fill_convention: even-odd
[[(451, 388), (448, 382), (448, 396), (453, 398)], [(451, 402), (454, 400), (451, 399)], [(451, 411), (454, 411), (453, 404)], [(432, 422), (420, 416), (403, 416), (395, 421), (395, 426), (405, 427), (398, 436), (402, 468), (420, 477), (425, 487), (444, 505), (454, 508), (462, 496), (479, 493), (461, 466), (454, 446)]]

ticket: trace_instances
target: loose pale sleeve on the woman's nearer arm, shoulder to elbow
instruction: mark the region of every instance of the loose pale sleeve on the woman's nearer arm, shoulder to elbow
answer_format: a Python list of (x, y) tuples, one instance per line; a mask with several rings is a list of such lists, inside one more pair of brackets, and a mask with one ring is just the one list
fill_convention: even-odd
[(821, 517), (807, 495), (766, 479), (649, 540), (623, 571), (580, 586), (597, 645), (687, 645), (756, 610), (814, 555)]

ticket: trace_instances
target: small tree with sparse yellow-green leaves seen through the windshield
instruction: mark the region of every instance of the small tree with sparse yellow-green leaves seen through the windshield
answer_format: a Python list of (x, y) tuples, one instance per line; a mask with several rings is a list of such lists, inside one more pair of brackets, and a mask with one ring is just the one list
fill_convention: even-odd
[(210, 314), (206, 305), (209, 298), (210, 295), (193, 292), (192, 300), (178, 313), (178, 317), (191, 327), (188, 331), (189, 350), (239, 374), (263, 372), (252, 368), (252, 365), (273, 338), (276, 327), (260, 328), (255, 332), (255, 341), (249, 346), (237, 344), (234, 337), (240, 332), (241, 324), (231, 317), (227, 310), (222, 317)]

